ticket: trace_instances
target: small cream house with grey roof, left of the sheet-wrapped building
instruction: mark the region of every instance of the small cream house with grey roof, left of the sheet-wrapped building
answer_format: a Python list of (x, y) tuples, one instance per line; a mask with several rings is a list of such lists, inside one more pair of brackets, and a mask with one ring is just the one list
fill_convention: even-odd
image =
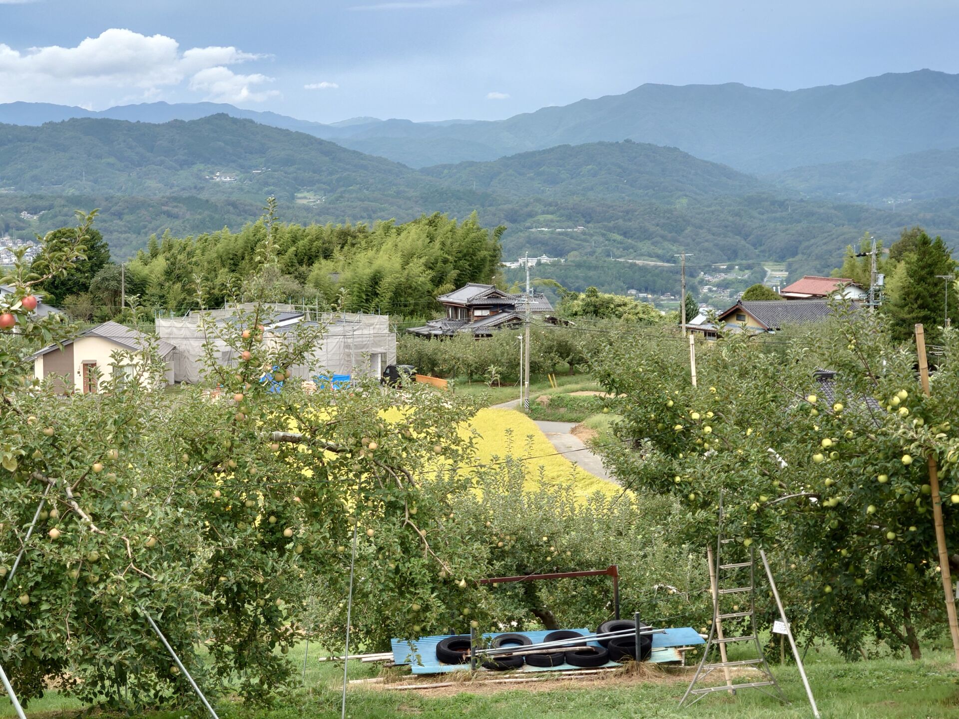
[[(60, 347), (50, 345), (37, 352), (34, 356), (34, 374), (39, 379), (51, 375), (65, 377), (64, 391), (73, 390), (83, 394), (99, 392), (101, 387), (98, 386), (94, 370), (99, 370), (101, 381), (111, 378), (118, 370), (131, 371), (135, 361), (118, 366), (112, 355), (116, 350), (143, 352), (148, 346), (147, 339), (148, 336), (139, 330), (117, 322), (104, 322), (85, 330), (74, 339), (68, 339)], [(173, 383), (174, 349), (169, 342), (159, 340), (157, 350), (160, 358), (167, 362), (168, 384)]]

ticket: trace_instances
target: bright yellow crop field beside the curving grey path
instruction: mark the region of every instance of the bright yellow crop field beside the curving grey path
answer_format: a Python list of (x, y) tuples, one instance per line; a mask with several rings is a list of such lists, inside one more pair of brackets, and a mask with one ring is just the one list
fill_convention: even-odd
[[(535, 490), (542, 483), (573, 483), (576, 493), (588, 497), (599, 491), (611, 497), (621, 489), (613, 482), (600, 479), (576, 467), (556, 449), (536, 424), (514, 409), (480, 409), (470, 423), (479, 432), (477, 460), (485, 463), (513, 456), (537, 457), (526, 465), (526, 489)], [(542, 470), (540, 469), (542, 468)]]

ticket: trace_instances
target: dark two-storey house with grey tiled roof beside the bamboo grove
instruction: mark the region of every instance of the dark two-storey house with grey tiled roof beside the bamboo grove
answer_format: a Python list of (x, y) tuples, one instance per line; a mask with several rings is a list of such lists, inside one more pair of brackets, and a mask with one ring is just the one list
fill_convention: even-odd
[[(471, 282), (436, 299), (443, 305), (445, 316), (431, 319), (422, 327), (411, 327), (407, 332), (423, 337), (456, 333), (491, 336), (496, 330), (522, 324), (526, 316), (525, 294), (510, 294), (494, 285)], [(529, 299), (529, 313), (542, 317), (551, 312), (546, 296), (534, 292)]]

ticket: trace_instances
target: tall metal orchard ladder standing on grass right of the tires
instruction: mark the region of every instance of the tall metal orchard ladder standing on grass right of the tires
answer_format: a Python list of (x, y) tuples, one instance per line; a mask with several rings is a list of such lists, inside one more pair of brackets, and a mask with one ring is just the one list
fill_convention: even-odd
[[(783, 690), (780, 688), (780, 685), (776, 683), (776, 679), (773, 677), (772, 672), (769, 670), (769, 664), (766, 663), (766, 658), (762, 653), (762, 646), (760, 645), (760, 638), (757, 633), (756, 627), (756, 557), (755, 551), (752, 547), (748, 549), (749, 559), (748, 561), (732, 561), (723, 563), (723, 557), (728, 552), (729, 549), (735, 547), (736, 540), (734, 539), (723, 539), (722, 537), (722, 520), (723, 520), (723, 511), (722, 511), (722, 499), (719, 500), (719, 528), (718, 536), (716, 538), (716, 555), (715, 555), (715, 573), (714, 583), (713, 583), (713, 625), (710, 628), (710, 636), (706, 640), (706, 647), (703, 649), (703, 658), (699, 661), (699, 666), (696, 667), (696, 673), (692, 677), (689, 687), (686, 689), (686, 693), (683, 695), (683, 699), (680, 701), (679, 706), (682, 707), (692, 706), (698, 702), (703, 697), (713, 694), (717, 691), (726, 691), (730, 694), (735, 694), (739, 689), (760, 689), (760, 691), (769, 694), (770, 696), (781, 699), (786, 704), (789, 702), (786, 700)], [(734, 545), (734, 546), (729, 546)], [(742, 556), (736, 557), (736, 560), (742, 560)], [(743, 569), (749, 569), (748, 583)], [(712, 569), (712, 568), (711, 568)], [(724, 586), (725, 585), (725, 586)], [(732, 612), (723, 611), (723, 597), (730, 595), (743, 595), (742, 598), (746, 599), (748, 597), (749, 609), (743, 610), (743, 602), (739, 602), (739, 609), (736, 609)], [(728, 602), (727, 602), (728, 604)], [(722, 620), (723, 619), (742, 619), (748, 617), (748, 628), (743, 633), (741, 637), (724, 637), (722, 632)], [(726, 648), (730, 645), (736, 644), (746, 644), (747, 646), (752, 644), (756, 647), (756, 656), (750, 659), (740, 659), (736, 661), (728, 661), (726, 657)], [(710, 661), (710, 655), (713, 653), (713, 650), (718, 650), (719, 661)], [(755, 682), (744, 682), (737, 684), (733, 682), (732, 678), (729, 675), (729, 669), (732, 667), (753, 667), (760, 671), (761, 677), (757, 677)], [(696, 684), (702, 682), (710, 674), (713, 673), (716, 669), (722, 669), (723, 673), (726, 675), (726, 683), (720, 684), (717, 686), (697, 686)], [(773, 690), (770, 691), (765, 687), (773, 687)]]

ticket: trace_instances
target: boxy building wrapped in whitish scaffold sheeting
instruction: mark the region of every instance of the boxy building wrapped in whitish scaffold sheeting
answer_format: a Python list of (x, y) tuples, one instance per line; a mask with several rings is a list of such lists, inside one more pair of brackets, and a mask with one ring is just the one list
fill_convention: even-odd
[[(317, 313), (303, 306), (272, 304), (263, 318), (265, 342), (283, 342), (300, 323), (326, 328), (308, 364), (291, 367), (294, 377), (318, 375), (380, 377), (387, 364), (396, 361), (396, 334), (389, 329), (389, 316), (364, 313)], [(199, 383), (203, 372), (203, 345), (210, 343), (223, 366), (237, 363), (236, 353), (216, 333), (203, 325), (222, 323), (238, 313), (254, 310), (251, 304), (227, 305), (222, 310), (192, 311), (182, 317), (157, 317), (156, 334), (174, 345), (174, 381)]]

